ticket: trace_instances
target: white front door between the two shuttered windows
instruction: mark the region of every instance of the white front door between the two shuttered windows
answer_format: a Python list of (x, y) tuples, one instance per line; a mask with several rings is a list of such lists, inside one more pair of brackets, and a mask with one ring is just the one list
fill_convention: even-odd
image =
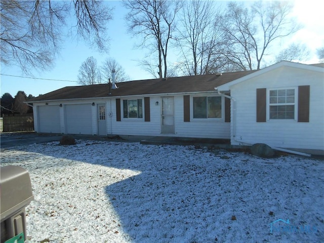
[(161, 133), (174, 133), (174, 97), (162, 97)]

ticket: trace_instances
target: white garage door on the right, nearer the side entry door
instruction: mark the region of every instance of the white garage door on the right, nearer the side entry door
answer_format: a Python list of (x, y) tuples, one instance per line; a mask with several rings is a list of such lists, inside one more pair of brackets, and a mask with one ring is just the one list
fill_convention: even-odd
[(66, 133), (92, 135), (91, 104), (66, 105)]

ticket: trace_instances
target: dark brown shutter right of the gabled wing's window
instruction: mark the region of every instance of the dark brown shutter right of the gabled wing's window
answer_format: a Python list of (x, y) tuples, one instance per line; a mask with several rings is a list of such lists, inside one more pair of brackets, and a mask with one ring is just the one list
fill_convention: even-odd
[(298, 86), (298, 122), (309, 123), (309, 85)]

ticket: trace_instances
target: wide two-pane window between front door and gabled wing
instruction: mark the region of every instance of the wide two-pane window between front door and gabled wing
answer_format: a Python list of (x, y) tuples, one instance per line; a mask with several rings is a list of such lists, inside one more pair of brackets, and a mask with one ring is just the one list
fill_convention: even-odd
[(221, 96), (197, 96), (193, 100), (193, 118), (222, 118)]

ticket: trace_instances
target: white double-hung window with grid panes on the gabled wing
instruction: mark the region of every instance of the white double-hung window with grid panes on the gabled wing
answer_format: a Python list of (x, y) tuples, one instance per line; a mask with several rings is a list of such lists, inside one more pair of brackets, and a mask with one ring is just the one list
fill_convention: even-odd
[(269, 119), (295, 119), (295, 89), (269, 90)]

